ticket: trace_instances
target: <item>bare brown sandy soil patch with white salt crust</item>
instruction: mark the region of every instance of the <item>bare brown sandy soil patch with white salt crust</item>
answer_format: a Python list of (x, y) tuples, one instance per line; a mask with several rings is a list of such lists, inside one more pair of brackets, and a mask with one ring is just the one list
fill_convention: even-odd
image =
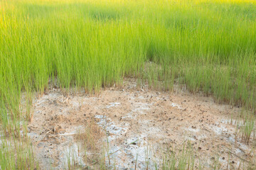
[(203, 169), (213, 169), (218, 159), (221, 169), (238, 169), (252, 157), (253, 146), (235, 136), (230, 118), (239, 113), (240, 108), (201, 94), (138, 89), (136, 81), (126, 80), (98, 96), (48, 91), (33, 103), (28, 135), (42, 169), (65, 169), (68, 158), (84, 169), (92, 166), (93, 150), (83, 153), (82, 142), (76, 140), (92, 121), (101, 131), (93, 134), (94, 150), (98, 157), (109, 155), (108, 169), (134, 169), (135, 164), (137, 169), (154, 169), (155, 163), (161, 164), (164, 148), (178, 148), (188, 140), (196, 166), (200, 159)]

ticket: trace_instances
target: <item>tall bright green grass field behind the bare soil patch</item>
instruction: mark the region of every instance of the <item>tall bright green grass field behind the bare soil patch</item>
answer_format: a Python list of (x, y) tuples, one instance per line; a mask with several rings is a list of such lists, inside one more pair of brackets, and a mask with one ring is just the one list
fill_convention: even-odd
[[(26, 125), (20, 122), (31, 119), (33, 94), (43, 94), (53, 82), (97, 93), (124, 77), (164, 91), (186, 85), (255, 113), (256, 2), (0, 1), (4, 137), (23, 136)], [(22, 152), (20, 142), (15, 153)], [(25, 169), (26, 160), (14, 163), (11, 152), (1, 146), (1, 169)], [(26, 157), (35, 166), (30, 149)]]

